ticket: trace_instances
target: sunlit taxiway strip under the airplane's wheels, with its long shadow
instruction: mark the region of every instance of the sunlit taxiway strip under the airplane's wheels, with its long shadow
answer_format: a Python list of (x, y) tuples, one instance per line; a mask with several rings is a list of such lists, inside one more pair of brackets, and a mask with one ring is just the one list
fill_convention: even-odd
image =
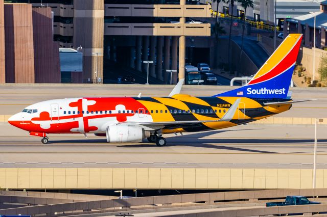
[[(317, 167), (327, 169), (326, 126), (318, 128)], [(313, 126), (242, 125), (218, 131), (168, 134), (168, 146), (108, 144), (90, 135), (40, 138), (0, 124), (0, 168), (312, 168)]]

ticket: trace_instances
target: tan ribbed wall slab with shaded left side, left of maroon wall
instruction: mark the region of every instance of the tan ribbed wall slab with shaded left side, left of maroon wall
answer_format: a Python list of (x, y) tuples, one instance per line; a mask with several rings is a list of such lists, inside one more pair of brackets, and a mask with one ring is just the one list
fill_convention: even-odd
[(34, 83), (32, 5), (5, 5), (6, 83)]

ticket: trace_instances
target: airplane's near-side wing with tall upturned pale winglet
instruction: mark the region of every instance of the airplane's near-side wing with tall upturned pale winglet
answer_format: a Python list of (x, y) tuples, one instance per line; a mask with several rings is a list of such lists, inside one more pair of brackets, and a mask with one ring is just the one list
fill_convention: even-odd
[(237, 99), (228, 109), (226, 114), (219, 120), (197, 120), (197, 121), (162, 121), (162, 122), (128, 122), (128, 124), (136, 124), (139, 126), (146, 126), (146, 127), (160, 127), (164, 128), (170, 125), (181, 125), (181, 124), (197, 124), (197, 123), (209, 123), (209, 122), (222, 122), (222, 121), (230, 121), (233, 116), (235, 115), (237, 108), (241, 98)]

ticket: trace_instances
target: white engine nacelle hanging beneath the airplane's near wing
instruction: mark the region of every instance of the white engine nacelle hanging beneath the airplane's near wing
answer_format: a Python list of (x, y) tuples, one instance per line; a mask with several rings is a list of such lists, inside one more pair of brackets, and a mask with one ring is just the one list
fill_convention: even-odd
[(108, 143), (139, 143), (145, 138), (142, 127), (130, 126), (128, 124), (118, 124), (107, 127)]

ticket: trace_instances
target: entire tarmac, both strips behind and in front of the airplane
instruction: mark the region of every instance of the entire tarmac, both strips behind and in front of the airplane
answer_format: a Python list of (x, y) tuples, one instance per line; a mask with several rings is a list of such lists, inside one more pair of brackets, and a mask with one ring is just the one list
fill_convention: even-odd
[[(124, 89), (122, 89), (122, 87)], [(158, 88), (160, 87), (160, 88)], [(145, 85), (34, 85), (0, 86), (0, 115), (11, 115), (25, 106), (55, 98), (105, 96), (167, 96), (173, 86)], [(231, 87), (184, 86), (182, 93), (211, 96)], [(317, 99), (293, 105), (274, 117), (326, 118), (324, 89), (294, 88), (293, 99)], [(326, 126), (318, 127), (317, 168), (327, 169)], [(237, 127), (168, 134), (166, 147), (147, 141), (108, 144), (105, 138), (76, 134), (50, 134), (40, 138), (0, 122), (0, 168), (312, 168), (313, 125), (241, 125)]]

